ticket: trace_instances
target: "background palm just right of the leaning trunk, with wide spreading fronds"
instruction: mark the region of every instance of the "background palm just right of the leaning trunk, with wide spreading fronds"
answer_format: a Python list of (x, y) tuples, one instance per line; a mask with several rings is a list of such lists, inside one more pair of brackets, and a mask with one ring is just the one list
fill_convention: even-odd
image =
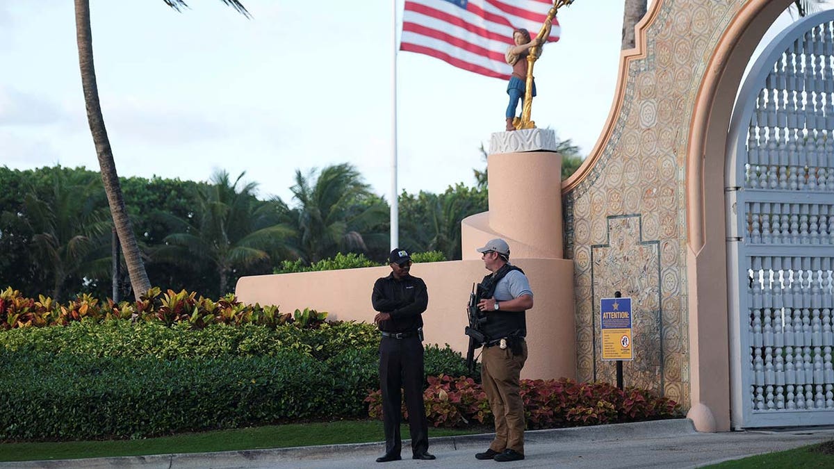
[(153, 252), (154, 259), (179, 265), (210, 265), (219, 276), (219, 295), (229, 289), (229, 278), (259, 262), (274, 261), (284, 240), (294, 234), (280, 224), (280, 204), (255, 197), (256, 183), (241, 185), (226, 171), (216, 172), (208, 186), (194, 194), (193, 212), (185, 218), (159, 213), (173, 234)]

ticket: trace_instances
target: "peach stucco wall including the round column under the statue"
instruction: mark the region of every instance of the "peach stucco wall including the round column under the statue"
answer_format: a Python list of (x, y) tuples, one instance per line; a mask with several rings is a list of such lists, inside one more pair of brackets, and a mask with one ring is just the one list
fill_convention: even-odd
[[(529, 357), (521, 376), (575, 378), (573, 262), (560, 259), (561, 157), (545, 151), (490, 154), (488, 165), (490, 211), (461, 222), (464, 260), (412, 267), (429, 289), (425, 341), (465, 354), (466, 302), (472, 284), (489, 273), (475, 249), (500, 237), (510, 244), (512, 263), (530, 279), (535, 301), (526, 315)], [(243, 277), (236, 292), (245, 303), (314, 308), (334, 320), (371, 322), (374, 280), (389, 272), (386, 266)]]

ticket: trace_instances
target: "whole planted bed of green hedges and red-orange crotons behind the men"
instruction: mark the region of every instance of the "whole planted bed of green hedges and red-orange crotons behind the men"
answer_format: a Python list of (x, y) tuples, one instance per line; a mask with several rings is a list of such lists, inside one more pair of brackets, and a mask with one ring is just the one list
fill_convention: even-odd
[[(0, 398), (0, 440), (379, 416), (376, 327), (326, 319), (187, 291), (153, 289), (118, 305), (0, 291), (0, 389), (9, 391)], [(428, 345), (430, 423), (490, 423), (479, 376), (449, 345)], [(666, 398), (605, 383), (525, 380), (520, 391), (531, 429), (681, 415)]]

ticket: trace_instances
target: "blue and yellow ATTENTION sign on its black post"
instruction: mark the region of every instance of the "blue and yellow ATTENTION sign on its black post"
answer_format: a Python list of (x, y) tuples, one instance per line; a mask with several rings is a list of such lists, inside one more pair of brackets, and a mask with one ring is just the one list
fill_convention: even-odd
[(602, 360), (617, 362), (617, 387), (623, 389), (623, 361), (634, 360), (631, 343), (631, 298), (600, 300), (600, 330), (602, 332)]

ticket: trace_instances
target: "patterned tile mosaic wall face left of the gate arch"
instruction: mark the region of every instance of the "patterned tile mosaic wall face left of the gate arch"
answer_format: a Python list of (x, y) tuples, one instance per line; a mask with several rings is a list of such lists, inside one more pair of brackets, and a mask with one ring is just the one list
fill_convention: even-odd
[(626, 383), (688, 407), (688, 129), (710, 54), (746, 0), (658, 1), (646, 57), (628, 65), (610, 138), (590, 174), (563, 196), (564, 245), (575, 263), (577, 377), (613, 382), (614, 366), (599, 360), (595, 345), (595, 302), (613, 294), (605, 290), (612, 281), (627, 279), (645, 329), (636, 346), (657, 353), (626, 366)]

